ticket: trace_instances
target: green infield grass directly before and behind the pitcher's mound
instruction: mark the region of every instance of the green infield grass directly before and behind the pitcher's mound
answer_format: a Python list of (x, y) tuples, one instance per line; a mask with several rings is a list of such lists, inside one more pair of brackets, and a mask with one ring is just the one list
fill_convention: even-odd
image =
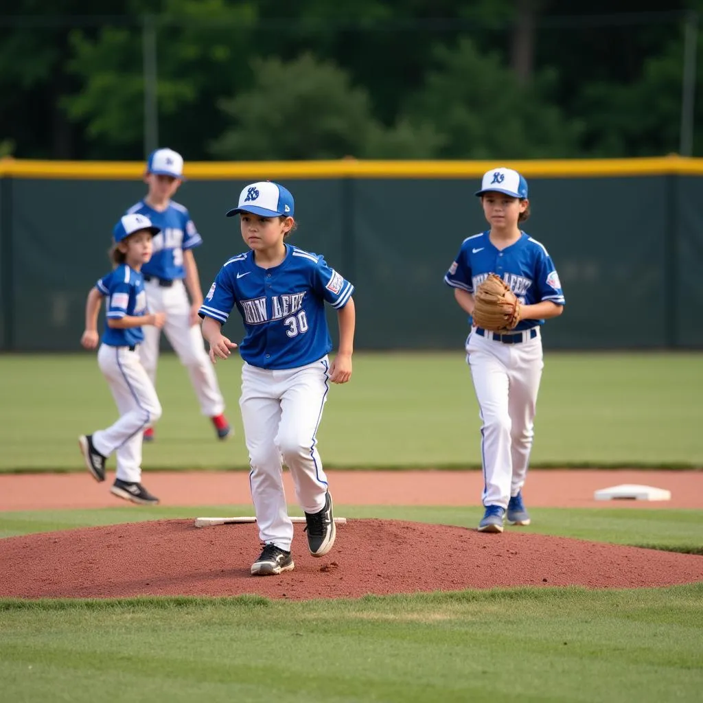
[[(470, 526), (479, 512), (340, 508)], [(0, 536), (207, 512), (6, 512)], [(693, 510), (533, 512), (527, 531), (682, 551), (703, 543)], [(703, 687), (702, 603), (703, 582), (307, 602), (0, 599), (0, 681), (13, 702), (693, 702)]]

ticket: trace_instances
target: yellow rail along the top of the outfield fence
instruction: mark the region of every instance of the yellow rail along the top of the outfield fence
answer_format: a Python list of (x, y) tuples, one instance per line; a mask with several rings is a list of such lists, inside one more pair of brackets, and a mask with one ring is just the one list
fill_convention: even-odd
[[(333, 178), (479, 178), (498, 166), (516, 169), (527, 178), (588, 178), (598, 176), (662, 176), (703, 174), (703, 158), (678, 155), (637, 159), (555, 159), (511, 161), (209, 161), (186, 162), (193, 181)], [(0, 176), (25, 179), (138, 180), (141, 161), (39, 161), (0, 159)]]

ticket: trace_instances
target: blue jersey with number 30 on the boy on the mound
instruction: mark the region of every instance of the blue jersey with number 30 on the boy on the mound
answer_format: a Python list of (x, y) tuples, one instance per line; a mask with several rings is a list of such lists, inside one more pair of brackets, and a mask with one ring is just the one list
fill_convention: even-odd
[(319, 254), (285, 245), (285, 259), (262, 269), (249, 251), (220, 269), (200, 317), (226, 323), (236, 306), (246, 330), (242, 359), (269, 369), (297, 368), (322, 359), (332, 349), (325, 301), (340, 310), (354, 285)]

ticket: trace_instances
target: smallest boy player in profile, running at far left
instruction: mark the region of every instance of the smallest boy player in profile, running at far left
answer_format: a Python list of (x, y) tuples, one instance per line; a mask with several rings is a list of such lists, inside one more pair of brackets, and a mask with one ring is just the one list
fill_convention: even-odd
[(78, 438), (86, 467), (98, 482), (105, 480), (105, 459), (117, 453), (117, 474), (110, 493), (133, 503), (153, 505), (159, 499), (141, 484), (141, 443), (144, 428), (161, 416), (154, 385), (141, 365), (138, 347), (144, 339), (142, 325), (163, 327), (163, 312), (149, 313), (141, 268), (151, 257), (153, 236), (159, 228), (140, 214), (124, 215), (115, 225), (113, 269), (88, 294), (86, 328), (81, 344), (98, 346), (98, 312), (107, 297), (105, 333), (98, 349), (98, 366), (108, 380), (120, 419), (107, 430)]

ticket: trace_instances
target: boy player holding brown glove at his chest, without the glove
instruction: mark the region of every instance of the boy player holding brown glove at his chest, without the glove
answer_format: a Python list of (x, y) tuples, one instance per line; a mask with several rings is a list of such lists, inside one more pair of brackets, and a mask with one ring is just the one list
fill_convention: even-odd
[(541, 327), (546, 319), (562, 314), (565, 299), (547, 250), (520, 229), (529, 217), (527, 181), (512, 169), (491, 169), (476, 195), (490, 228), (464, 240), (444, 280), (469, 315), (473, 293), (489, 273), (502, 278), (520, 302), (520, 322), (511, 330), (495, 333), (472, 325), (466, 340), (483, 421), (485, 512), (478, 529), (502, 532), (506, 509), (510, 524), (530, 522), (522, 486), (544, 365)]

